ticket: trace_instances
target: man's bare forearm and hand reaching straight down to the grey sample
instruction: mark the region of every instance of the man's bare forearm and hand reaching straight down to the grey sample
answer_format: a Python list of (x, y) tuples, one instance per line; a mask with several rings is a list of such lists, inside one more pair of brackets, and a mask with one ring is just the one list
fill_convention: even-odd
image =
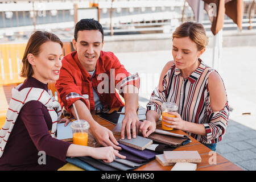
[(133, 138), (136, 138), (139, 127), (139, 118), (137, 108), (139, 104), (139, 89), (134, 85), (126, 85), (123, 87), (125, 97), (125, 118), (122, 121), (121, 138), (125, 138), (125, 129), (127, 138), (131, 139), (130, 130), (132, 128)]

